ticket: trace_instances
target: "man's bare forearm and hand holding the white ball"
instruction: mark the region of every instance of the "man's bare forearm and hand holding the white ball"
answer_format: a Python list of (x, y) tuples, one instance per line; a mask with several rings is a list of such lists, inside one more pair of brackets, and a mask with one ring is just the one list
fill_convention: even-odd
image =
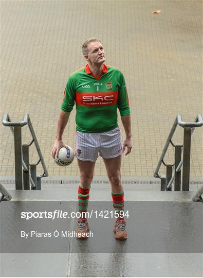
[(70, 112), (64, 112), (62, 110), (60, 111), (59, 118), (58, 118), (58, 128), (57, 128), (56, 140), (55, 140), (55, 143), (53, 145), (53, 149), (52, 149), (52, 153), (51, 153), (53, 158), (55, 157), (55, 155), (56, 155), (56, 157), (58, 157), (60, 148), (62, 148), (62, 147), (67, 148), (68, 147), (62, 141), (62, 135), (63, 135), (64, 129), (67, 125), (69, 116), (70, 116)]

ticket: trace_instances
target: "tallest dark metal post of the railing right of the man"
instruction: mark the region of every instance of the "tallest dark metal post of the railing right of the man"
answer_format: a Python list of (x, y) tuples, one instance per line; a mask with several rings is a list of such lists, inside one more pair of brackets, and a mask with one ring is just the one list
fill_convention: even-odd
[(191, 134), (191, 128), (185, 127), (183, 137), (182, 191), (189, 191), (190, 186)]

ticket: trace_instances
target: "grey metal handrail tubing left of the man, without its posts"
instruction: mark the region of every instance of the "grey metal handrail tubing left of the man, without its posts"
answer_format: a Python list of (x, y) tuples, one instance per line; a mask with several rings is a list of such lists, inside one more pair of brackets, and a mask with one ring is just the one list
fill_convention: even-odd
[[(23, 121), (11, 121), (10, 117), (8, 114), (5, 114), (4, 117), (3, 117), (3, 120), (2, 120), (2, 123), (4, 126), (8, 126), (10, 127), (11, 129), (11, 132), (12, 134), (14, 135), (14, 128), (16, 127), (23, 127), (25, 125), (28, 125), (29, 127), (29, 130), (30, 130), (30, 133), (32, 135), (32, 141), (30, 142), (30, 144), (28, 146), (30, 146), (32, 143), (35, 144), (35, 147), (36, 147), (36, 150), (38, 152), (38, 155), (39, 155), (39, 161), (36, 163), (36, 164), (33, 164), (33, 165), (38, 165), (40, 162), (42, 164), (42, 167), (43, 167), (43, 170), (44, 170), (44, 173), (42, 173), (41, 175), (39, 175), (40, 178), (42, 177), (48, 177), (48, 172), (47, 172), (47, 169), (46, 169), (46, 165), (44, 163), (44, 159), (42, 157), (42, 153), (41, 153), (41, 150), (40, 150), (40, 146), (38, 144), (38, 140), (36, 139), (36, 135), (34, 133), (34, 129), (32, 127), (32, 123), (31, 123), (31, 120), (30, 120), (30, 117), (29, 117), (29, 114), (25, 114), (24, 116), (24, 120)], [(23, 169), (25, 172), (28, 171), (28, 168), (22, 158), (22, 165), (23, 165)], [(30, 179), (30, 183), (31, 183), (31, 187), (32, 188), (35, 188), (36, 185), (35, 183), (33, 182), (31, 176), (29, 175), (29, 179)]]

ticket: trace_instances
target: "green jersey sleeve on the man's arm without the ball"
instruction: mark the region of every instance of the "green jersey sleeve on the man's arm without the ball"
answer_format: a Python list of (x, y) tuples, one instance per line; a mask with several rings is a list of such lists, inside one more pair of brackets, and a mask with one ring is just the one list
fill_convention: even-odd
[(121, 116), (129, 115), (131, 114), (131, 110), (129, 107), (129, 100), (127, 95), (125, 79), (121, 72), (119, 74), (120, 74), (120, 87), (118, 92), (118, 109), (120, 111)]

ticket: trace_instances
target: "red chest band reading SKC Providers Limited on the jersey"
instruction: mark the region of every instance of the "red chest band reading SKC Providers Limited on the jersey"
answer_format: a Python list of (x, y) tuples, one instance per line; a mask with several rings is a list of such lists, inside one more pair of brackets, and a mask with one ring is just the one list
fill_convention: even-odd
[(76, 92), (76, 104), (82, 106), (109, 106), (117, 103), (118, 91), (104, 93)]

